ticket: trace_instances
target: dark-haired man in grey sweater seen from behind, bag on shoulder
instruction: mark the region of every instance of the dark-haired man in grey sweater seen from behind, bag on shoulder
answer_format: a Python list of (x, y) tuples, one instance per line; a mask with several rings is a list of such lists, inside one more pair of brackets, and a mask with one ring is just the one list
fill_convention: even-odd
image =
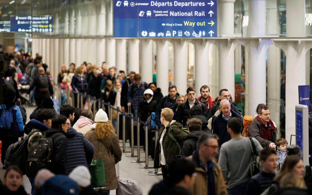
[[(251, 177), (250, 164), (252, 162), (251, 140), (241, 136), (241, 120), (230, 118), (227, 121), (227, 132), (231, 138), (222, 144), (218, 164), (221, 168), (227, 192), (229, 195), (244, 195), (247, 183)], [(252, 138), (257, 153), (262, 149), (260, 143)]]

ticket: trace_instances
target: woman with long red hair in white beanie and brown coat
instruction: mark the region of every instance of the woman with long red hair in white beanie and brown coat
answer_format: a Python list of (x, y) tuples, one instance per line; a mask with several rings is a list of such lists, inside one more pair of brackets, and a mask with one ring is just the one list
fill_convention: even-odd
[(103, 159), (105, 167), (105, 181), (108, 190), (118, 188), (115, 169), (115, 158), (121, 160), (121, 149), (114, 127), (110, 124), (105, 111), (100, 109), (95, 114), (94, 124), (85, 137), (94, 146), (93, 159)]

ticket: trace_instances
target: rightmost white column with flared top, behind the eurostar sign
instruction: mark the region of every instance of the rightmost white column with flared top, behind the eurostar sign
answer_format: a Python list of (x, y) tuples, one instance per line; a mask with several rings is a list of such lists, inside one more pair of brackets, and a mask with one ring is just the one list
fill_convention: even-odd
[(286, 140), (295, 135), (295, 105), (298, 104), (298, 85), (305, 85), (305, 53), (312, 47), (312, 41), (301, 39), (273, 39), (275, 46), (281, 48), (286, 55), (286, 108), (285, 134)]

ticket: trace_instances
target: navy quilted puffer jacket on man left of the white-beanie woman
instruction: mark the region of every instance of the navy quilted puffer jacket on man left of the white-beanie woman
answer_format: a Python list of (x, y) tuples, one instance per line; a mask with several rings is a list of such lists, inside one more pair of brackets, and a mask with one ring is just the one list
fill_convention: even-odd
[(94, 147), (91, 142), (83, 136), (82, 133), (77, 132), (74, 128), (67, 128), (67, 155), (66, 155), (66, 174), (79, 165), (88, 167), (94, 155)]

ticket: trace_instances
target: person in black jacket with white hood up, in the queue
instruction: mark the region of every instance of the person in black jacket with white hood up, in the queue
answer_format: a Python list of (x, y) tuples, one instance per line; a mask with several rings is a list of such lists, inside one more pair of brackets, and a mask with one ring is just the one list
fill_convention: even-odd
[(146, 121), (152, 112), (156, 112), (157, 101), (154, 98), (154, 93), (151, 89), (144, 91), (144, 99), (140, 101), (138, 109), (138, 117), (142, 121)]

